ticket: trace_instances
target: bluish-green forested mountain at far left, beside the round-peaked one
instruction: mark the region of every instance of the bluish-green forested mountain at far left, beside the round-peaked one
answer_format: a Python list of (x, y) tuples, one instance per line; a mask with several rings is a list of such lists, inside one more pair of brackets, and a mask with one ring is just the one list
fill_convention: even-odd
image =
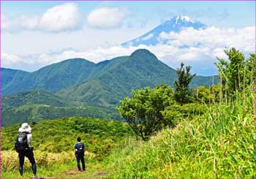
[[(31, 89), (42, 89), (50, 93), (83, 82), (96, 64), (82, 58), (74, 58), (51, 64), (35, 72), (16, 72), (1, 69), (3, 94), (15, 94)], [(15, 75), (12, 75), (15, 74)]]

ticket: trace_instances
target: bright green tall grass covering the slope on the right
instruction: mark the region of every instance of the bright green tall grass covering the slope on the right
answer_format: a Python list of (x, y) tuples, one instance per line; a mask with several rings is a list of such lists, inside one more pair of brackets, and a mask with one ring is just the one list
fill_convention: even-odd
[(246, 90), (110, 156), (110, 178), (255, 178), (254, 96)]

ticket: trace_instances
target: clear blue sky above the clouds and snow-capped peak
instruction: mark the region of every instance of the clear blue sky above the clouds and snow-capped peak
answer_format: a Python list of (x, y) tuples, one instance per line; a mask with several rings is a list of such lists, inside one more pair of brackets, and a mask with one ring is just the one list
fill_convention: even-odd
[[(150, 18), (161, 23), (173, 15), (188, 15), (209, 25), (235, 28), (254, 26), (254, 1), (72, 1), (83, 15), (99, 7), (127, 8), (136, 20)], [(2, 13), (11, 16), (42, 15), (50, 7), (67, 1), (2, 1)], [(137, 22), (140, 23), (140, 22)]]

